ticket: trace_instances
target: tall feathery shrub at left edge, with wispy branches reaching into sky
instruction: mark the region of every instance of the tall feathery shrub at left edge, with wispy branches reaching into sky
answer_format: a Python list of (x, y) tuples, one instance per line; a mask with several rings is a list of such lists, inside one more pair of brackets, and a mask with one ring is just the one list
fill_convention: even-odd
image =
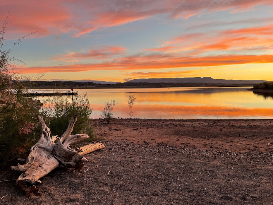
[(32, 98), (22, 96), (26, 89), (20, 80), (25, 77), (13, 72), (14, 62), (21, 61), (9, 57), (12, 48), (31, 34), (19, 38), (9, 49), (4, 49), (7, 19), (8, 16), (0, 31), (0, 160), (3, 165), (14, 157), (22, 158), (37, 140), (36, 130), (39, 128), (35, 116), (41, 106)]

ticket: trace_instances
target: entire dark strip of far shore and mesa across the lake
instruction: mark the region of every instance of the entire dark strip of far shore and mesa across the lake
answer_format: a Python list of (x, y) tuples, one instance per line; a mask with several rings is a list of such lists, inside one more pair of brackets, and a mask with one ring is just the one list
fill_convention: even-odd
[(152, 87), (208, 87), (208, 86), (254, 86), (270, 82), (264, 80), (224, 80), (211, 77), (196, 78), (141, 78), (124, 83), (107, 81), (28, 81), (26, 87), (36, 88), (152, 88)]

